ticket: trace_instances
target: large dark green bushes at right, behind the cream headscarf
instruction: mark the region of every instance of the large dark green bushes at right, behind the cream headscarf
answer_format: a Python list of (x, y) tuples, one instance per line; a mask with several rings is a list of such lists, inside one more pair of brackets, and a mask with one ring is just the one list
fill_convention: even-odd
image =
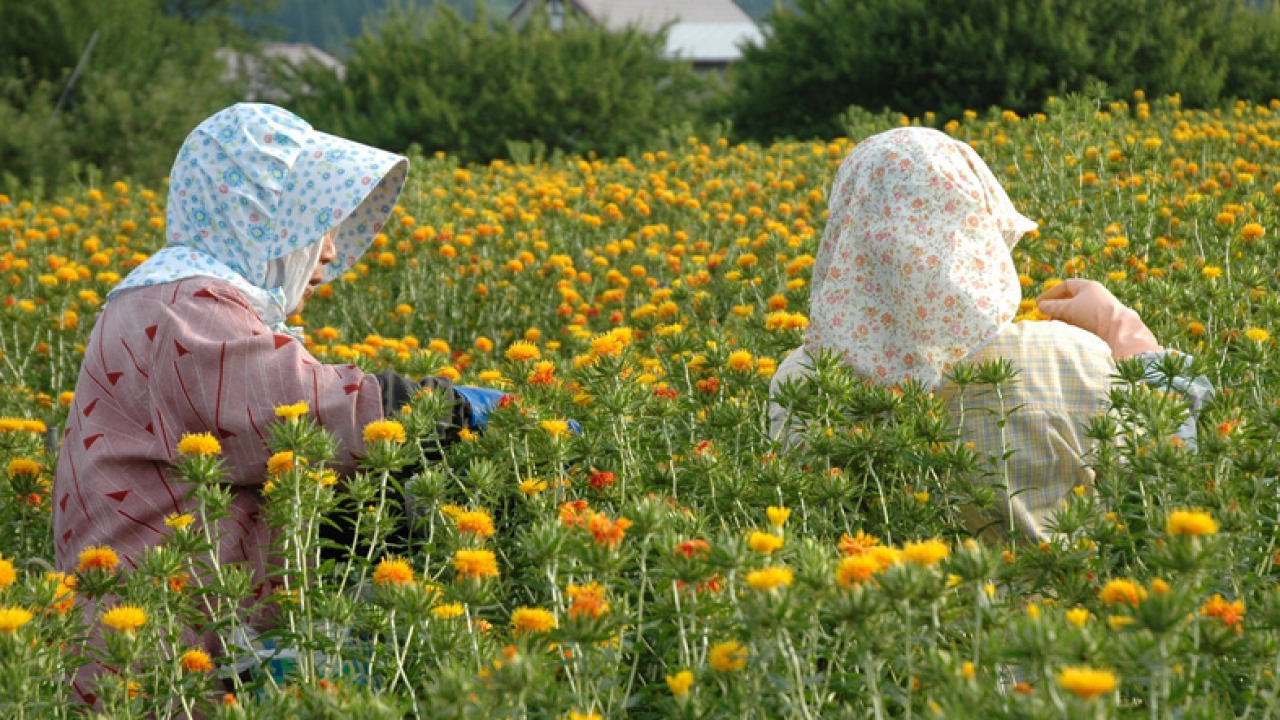
[(735, 68), (727, 113), (745, 136), (841, 132), (850, 105), (959, 117), (1034, 111), (1108, 83), (1204, 106), (1274, 94), (1280, 9), (1239, 0), (797, 0)]

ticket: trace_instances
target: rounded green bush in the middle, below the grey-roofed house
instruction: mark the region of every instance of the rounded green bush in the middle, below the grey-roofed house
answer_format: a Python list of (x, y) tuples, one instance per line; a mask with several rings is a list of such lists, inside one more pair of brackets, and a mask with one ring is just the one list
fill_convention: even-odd
[(544, 17), (521, 28), (392, 10), (353, 44), (346, 82), (312, 69), (293, 109), (316, 127), (380, 147), (419, 145), (466, 159), (509, 143), (616, 154), (692, 119), (699, 79), (662, 59), (664, 37)]

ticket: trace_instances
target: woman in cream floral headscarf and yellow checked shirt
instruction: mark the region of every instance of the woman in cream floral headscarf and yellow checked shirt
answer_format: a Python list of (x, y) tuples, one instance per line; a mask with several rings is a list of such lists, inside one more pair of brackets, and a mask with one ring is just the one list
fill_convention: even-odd
[[(1016, 407), (1001, 428), (1000, 400), (965, 398), (963, 441), (986, 455), (1014, 451), (1000, 518), (970, 518), (970, 530), (1012, 528), (1032, 538), (1075, 487), (1091, 487), (1085, 424), (1108, 405), (1115, 360), (1165, 354), (1105, 287), (1066, 281), (1039, 309), (1061, 322), (1014, 323), (1021, 286), (1010, 254), (1036, 223), (1014, 209), (969, 145), (925, 128), (900, 128), (859, 143), (831, 188), (829, 219), (813, 272), (804, 347), (773, 378), (773, 391), (812, 373), (812, 356), (837, 354), (881, 384), (916, 380), (948, 400), (957, 363), (1007, 359), (1018, 379), (1004, 393)], [(1175, 380), (1198, 411), (1202, 380)], [(791, 411), (771, 406), (776, 438), (790, 439)], [(1194, 442), (1194, 418), (1180, 430)], [(1004, 437), (1004, 441), (1001, 441)], [(1001, 482), (1004, 478), (1001, 478)]]

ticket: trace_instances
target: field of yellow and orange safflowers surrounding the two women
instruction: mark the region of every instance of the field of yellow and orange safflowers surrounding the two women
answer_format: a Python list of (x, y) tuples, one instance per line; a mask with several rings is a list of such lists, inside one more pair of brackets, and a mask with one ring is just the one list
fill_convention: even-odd
[[(58, 428), (96, 310), (163, 243), (164, 188), (0, 196), (0, 714), (87, 714), (69, 676), (93, 657), (115, 669), (109, 717), (1280, 716), (1280, 101), (945, 124), (1041, 224), (1014, 254), (1020, 322), (1052, 283), (1102, 281), (1217, 388), (1189, 447), (1181, 398), (1121, 364), (1089, 425), (1094, 488), (1038, 543), (965, 534), (966, 509), (1001, 506), (1000, 457), (919, 387), (823, 366), (791, 391), (803, 447), (769, 438), (828, 183), (899, 122), (934, 120), (416, 158), (375, 247), (294, 322), (321, 360), (512, 395), (443, 448), (421, 396), (366, 428), (352, 478), (325, 473), (305, 404), (276, 410), (261, 493), (288, 529), (269, 610), (287, 655), (241, 675), (180, 632), (246, 623), (247, 573), (209, 555), (230, 492), (212, 436), (175, 447), (202, 510), (160, 551), (51, 565)], [(998, 392), (1012, 370), (955, 382)], [(357, 538), (321, 559), (334, 510)], [(86, 626), (74, 609), (102, 596)]]

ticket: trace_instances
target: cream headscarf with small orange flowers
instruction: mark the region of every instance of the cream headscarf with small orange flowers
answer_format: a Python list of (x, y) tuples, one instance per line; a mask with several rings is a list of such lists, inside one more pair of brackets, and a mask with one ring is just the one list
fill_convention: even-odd
[(1036, 228), (982, 158), (927, 128), (859, 143), (831, 187), (805, 348), (883, 384), (937, 387), (1005, 328), (1021, 287), (1010, 249)]

